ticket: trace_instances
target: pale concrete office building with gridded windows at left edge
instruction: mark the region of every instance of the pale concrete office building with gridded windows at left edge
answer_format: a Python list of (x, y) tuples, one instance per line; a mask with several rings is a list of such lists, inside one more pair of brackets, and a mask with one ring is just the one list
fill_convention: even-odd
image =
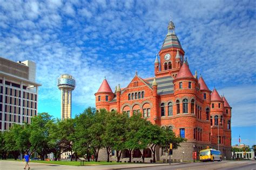
[(37, 114), (36, 63), (0, 58), (0, 130), (12, 124), (31, 123)]

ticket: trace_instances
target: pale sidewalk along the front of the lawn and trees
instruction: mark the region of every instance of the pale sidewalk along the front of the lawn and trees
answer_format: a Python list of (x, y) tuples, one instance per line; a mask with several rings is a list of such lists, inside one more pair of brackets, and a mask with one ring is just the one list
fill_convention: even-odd
[[(171, 165), (186, 164), (185, 162), (173, 163)], [(119, 165), (95, 165), (95, 166), (68, 166), (68, 165), (55, 165), (55, 164), (42, 164), (42, 163), (29, 163), (31, 169), (56, 169), (56, 170), (77, 170), (77, 169), (89, 169), (89, 170), (102, 170), (102, 169), (129, 169), (129, 168), (141, 168), (141, 167), (153, 167), (169, 165), (168, 163), (146, 163), (146, 164), (119, 164)], [(0, 169), (23, 169), (24, 162), (19, 161), (2, 161), (0, 160)]]

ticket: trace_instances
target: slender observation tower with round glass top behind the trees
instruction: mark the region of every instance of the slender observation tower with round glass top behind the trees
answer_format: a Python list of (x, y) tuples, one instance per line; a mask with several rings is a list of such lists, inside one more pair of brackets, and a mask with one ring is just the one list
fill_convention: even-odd
[(61, 118), (71, 118), (72, 90), (76, 87), (76, 81), (70, 74), (62, 74), (58, 78), (58, 88), (62, 91)]

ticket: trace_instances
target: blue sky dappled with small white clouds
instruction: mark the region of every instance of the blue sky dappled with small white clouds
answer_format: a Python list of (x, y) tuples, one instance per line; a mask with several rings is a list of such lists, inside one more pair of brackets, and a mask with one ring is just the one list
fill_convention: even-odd
[(106, 75), (114, 89), (153, 62), (172, 16), (192, 73), (224, 94), (232, 144), (256, 144), (255, 1), (2, 1), (0, 56), (37, 63), (39, 112), (60, 117), (57, 77), (73, 75), (72, 114), (95, 106)]

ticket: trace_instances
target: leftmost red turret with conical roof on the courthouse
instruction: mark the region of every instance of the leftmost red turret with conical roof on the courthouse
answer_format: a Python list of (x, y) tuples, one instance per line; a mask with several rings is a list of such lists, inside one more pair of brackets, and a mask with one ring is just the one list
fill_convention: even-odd
[(96, 96), (96, 109), (105, 108), (109, 110), (109, 101), (112, 101), (114, 97), (114, 93), (111, 90), (109, 83), (106, 79), (103, 80), (102, 84), (100, 85)]

